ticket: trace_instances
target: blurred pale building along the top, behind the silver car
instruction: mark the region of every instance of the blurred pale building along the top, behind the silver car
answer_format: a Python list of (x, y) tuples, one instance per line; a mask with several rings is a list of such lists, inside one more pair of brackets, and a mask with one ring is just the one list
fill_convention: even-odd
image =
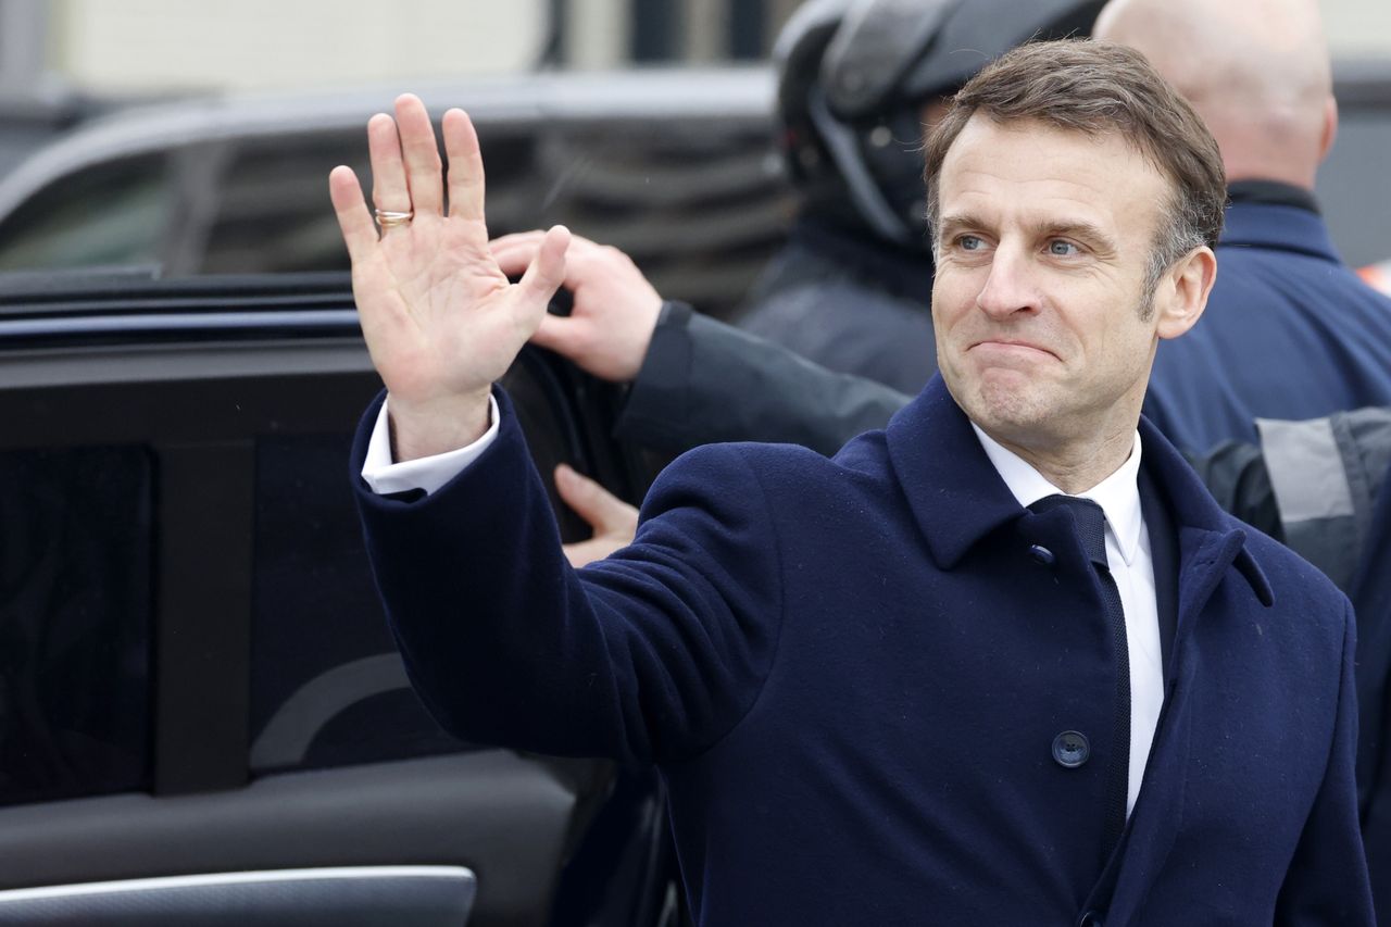
[[(1334, 57), (1391, 56), (1391, 3), (1320, 6)], [(0, 95), (303, 88), (538, 64), (757, 60), (796, 7), (797, 0), (0, 0)]]

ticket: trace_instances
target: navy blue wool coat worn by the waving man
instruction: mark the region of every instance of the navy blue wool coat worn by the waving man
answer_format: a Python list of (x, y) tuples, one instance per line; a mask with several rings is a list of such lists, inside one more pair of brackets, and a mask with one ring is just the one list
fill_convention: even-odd
[[(428, 498), (355, 477), (401, 651), (463, 738), (657, 763), (700, 924), (1372, 923), (1348, 603), (1148, 423), (1177, 632), (1104, 860), (1095, 573), (1064, 512), (1015, 502), (940, 379), (833, 459), (684, 455), (636, 543), (577, 572), (499, 402), (498, 440)], [(1063, 731), (1086, 764), (1053, 760)]]

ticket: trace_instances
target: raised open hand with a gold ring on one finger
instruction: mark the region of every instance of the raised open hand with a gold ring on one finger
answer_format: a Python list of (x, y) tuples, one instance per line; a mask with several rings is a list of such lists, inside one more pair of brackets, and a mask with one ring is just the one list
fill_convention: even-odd
[(430, 116), (396, 99), (367, 122), (381, 232), (352, 168), (328, 177), (352, 259), (353, 296), (371, 362), (387, 384), (392, 448), (409, 461), (463, 447), (488, 425), (488, 390), (545, 317), (565, 278), (569, 232), (545, 232), (516, 284), (488, 249), (483, 157), (462, 110), (444, 114), (445, 180)]

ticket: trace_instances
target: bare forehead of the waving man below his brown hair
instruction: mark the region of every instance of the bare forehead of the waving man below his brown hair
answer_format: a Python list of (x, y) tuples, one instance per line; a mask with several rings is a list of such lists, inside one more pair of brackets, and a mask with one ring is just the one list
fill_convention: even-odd
[(938, 177), (943, 219), (1086, 221), (1146, 242), (1170, 192), (1168, 180), (1120, 132), (996, 122), (979, 113), (951, 142)]

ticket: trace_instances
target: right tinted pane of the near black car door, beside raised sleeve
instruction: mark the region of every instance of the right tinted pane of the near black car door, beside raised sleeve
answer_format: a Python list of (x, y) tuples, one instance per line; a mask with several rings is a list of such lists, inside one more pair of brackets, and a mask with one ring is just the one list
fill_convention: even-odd
[[(529, 351), (504, 379), (552, 500), (556, 464), (593, 466), (565, 376)], [(253, 774), (473, 749), (444, 734), (408, 688), (344, 469), (351, 440), (345, 427), (256, 441)], [(568, 509), (559, 523), (566, 540), (588, 534)]]

